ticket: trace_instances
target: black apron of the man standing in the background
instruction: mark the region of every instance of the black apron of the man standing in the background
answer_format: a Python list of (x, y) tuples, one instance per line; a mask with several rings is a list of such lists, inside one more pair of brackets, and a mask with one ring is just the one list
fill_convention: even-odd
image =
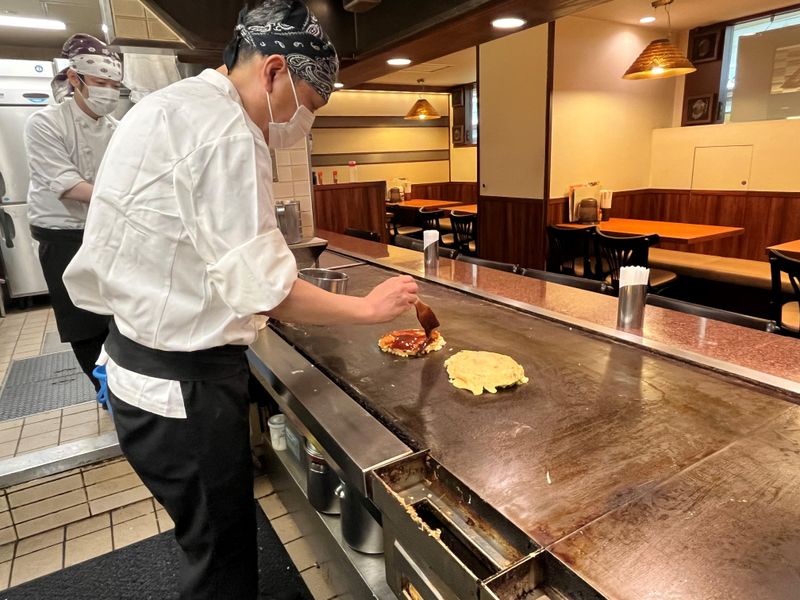
[(31, 226), (33, 239), (39, 242), (39, 262), (50, 292), (62, 342), (69, 342), (81, 369), (95, 389), (100, 384), (92, 375), (97, 357), (108, 334), (109, 317), (78, 308), (64, 287), (64, 271), (83, 243), (82, 229), (45, 229)]

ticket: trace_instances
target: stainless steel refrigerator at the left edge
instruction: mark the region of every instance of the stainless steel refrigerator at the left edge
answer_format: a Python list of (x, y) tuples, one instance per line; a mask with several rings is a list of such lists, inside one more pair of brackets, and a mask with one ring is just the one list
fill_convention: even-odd
[(11, 298), (47, 293), (38, 243), (28, 226), (28, 117), (50, 103), (53, 64), (0, 60), (0, 253)]

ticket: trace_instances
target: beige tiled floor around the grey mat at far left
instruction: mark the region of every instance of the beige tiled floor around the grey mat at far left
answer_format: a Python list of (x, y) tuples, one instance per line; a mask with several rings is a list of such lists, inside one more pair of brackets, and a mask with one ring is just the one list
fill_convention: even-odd
[[(5, 382), (12, 360), (63, 350), (61, 344), (45, 341), (47, 334), (56, 331), (55, 317), (49, 308), (16, 312), (0, 319), (0, 382)], [(96, 402), (0, 421), (0, 459), (94, 437), (113, 429), (108, 413)]]

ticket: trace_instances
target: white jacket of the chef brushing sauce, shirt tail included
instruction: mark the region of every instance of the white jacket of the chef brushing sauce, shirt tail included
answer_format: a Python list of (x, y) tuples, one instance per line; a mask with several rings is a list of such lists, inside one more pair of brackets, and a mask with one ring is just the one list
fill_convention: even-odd
[[(227, 77), (206, 70), (125, 116), (95, 182), (64, 283), (149, 348), (250, 344), (297, 279), (275, 219), (261, 130)], [(107, 365), (123, 401), (185, 417), (180, 384)]]

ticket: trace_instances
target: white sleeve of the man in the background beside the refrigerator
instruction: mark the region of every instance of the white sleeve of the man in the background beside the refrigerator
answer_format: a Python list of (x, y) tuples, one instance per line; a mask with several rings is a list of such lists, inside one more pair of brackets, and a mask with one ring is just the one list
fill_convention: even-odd
[(69, 160), (63, 133), (39, 113), (25, 124), (25, 149), (31, 177), (39, 178), (58, 197), (84, 181)]

